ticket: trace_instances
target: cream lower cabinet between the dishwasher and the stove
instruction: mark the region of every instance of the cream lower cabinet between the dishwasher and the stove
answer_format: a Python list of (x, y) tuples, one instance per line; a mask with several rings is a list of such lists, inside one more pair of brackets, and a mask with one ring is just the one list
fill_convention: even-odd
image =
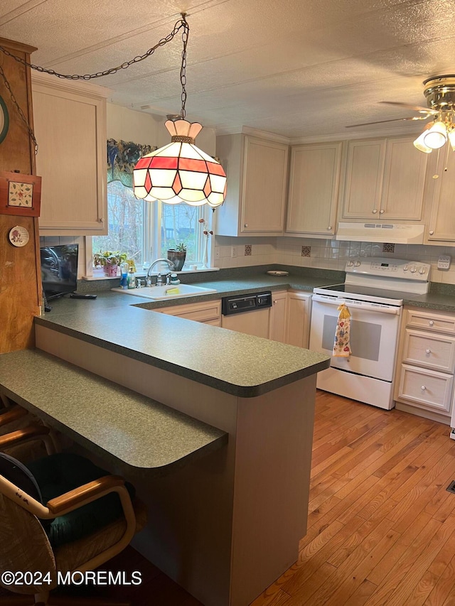
[(296, 291), (272, 292), (269, 339), (308, 347), (311, 294)]

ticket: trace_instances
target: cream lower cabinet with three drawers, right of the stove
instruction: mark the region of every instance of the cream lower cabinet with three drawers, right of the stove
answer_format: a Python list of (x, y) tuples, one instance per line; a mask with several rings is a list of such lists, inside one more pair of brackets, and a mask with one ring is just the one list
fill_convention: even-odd
[(455, 313), (405, 310), (396, 407), (449, 423), (454, 391)]

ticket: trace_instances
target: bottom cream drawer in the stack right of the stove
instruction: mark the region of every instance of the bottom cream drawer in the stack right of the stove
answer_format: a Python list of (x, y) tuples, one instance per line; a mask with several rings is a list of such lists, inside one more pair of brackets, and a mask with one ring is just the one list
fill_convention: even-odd
[(454, 377), (434, 370), (402, 364), (399, 398), (416, 402), (439, 412), (449, 412)]

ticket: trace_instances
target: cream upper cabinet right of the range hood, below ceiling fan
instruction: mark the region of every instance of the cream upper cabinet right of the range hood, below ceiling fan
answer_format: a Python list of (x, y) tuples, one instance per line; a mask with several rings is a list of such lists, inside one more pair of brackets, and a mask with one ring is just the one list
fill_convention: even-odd
[[(445, 170), (447, 169), (447, 170)], [(455, 241), (455, 153), (449, 145), (441, 149), (434, 184), (429, 241)]]

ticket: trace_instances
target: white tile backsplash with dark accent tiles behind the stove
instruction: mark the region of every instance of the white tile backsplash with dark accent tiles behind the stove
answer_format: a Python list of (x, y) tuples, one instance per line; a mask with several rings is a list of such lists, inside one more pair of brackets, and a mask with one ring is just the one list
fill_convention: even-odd
[[(344, 242), (316, 238), (215, 236), (214, 253), (214, 265), (223, 269), (277, 263), (343, 270), (346, 261), (355, 256), (410, 259), (432, 265), (432, 282), (455, 284), (455, 246)], [(437, 268), (438, 257), (441, 254), (453, 256), (449, 270)]]

